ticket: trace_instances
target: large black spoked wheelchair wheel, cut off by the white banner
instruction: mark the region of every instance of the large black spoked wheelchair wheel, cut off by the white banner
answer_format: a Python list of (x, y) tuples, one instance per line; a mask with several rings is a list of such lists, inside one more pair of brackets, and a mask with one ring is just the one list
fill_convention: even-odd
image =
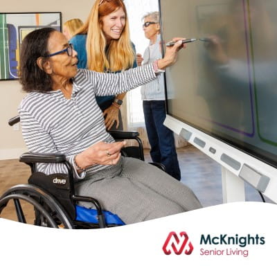
[[(13, 200), (18, 222), (27, 223), (28, 217), (28, 221), (32, 218), (33, 224), (37, 226), (74, 229), (73, 222), (64, 208), (38, 186), (20, 184), (7, 190), (0, 198), (0, 215), (10, 200)], [(24, 212), (28, 205), (33, 206), (33, 215), (30, 215), (30, 207), (27, 213)]]

